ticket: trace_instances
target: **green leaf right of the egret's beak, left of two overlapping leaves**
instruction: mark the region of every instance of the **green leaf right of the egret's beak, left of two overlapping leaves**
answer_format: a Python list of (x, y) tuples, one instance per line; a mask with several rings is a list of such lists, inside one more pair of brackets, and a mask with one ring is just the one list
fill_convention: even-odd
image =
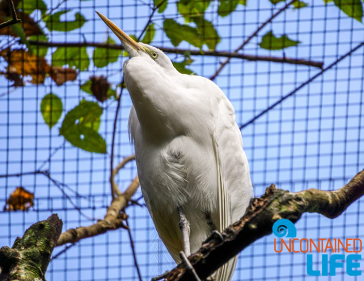
[(166, 18), (163, 22), (163, 29), (173, 46), (178, 46), (183, 40), (195, 47), (201, 48), (203, 45), (197, 28), (186, 24), (181, 25), (172, 18)]

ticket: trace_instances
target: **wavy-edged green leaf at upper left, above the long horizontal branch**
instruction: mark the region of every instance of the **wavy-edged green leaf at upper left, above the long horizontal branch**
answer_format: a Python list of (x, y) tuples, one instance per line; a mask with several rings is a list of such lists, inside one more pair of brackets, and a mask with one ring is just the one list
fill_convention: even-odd
[(73, 21), (61, 21), (60, 17), (70, 10), (59, 11), (53, 15), (46, 16), (43, 20), (46, 23), (46, 27), (50, 31), (71, 31), (83, 26), (86, 22), (85, 18), (80, 14), (75, 14), (75, 20)]

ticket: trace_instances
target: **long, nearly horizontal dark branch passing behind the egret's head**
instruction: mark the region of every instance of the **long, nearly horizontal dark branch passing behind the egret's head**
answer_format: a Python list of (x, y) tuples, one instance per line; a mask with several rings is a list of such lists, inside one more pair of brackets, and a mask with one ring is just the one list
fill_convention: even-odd
[[(121, 49), (123, 50), (124, 47), (122, 45), (110, 45), (105, 43), (61, 43), (61, 42), (43, 42), (43, 41), (28, 41), (30, 45), (38, 45), (38, 46), (47, 46), (47, 47), (102, 47), (102, 48), (109, 48), (109, 49)], [(242, 59), (247, 61), (261, 61), (261, 62), (280, 62), (280, 63), (289, 63), (289, 64), (300, 64), (300, 65), (307, 65), (307, 66), (314, 66), (318, 68), (322, 68), (323, 62), (314, 62), (314, 61), (307, 61), (304, 59), (293, 59), (288, 57), (272, 57), (272, 56), (256, 56), (256, 55), (246, 55), (246, 54), (239, 54), (235, 52), (219, 52), (214, 50), (189, 50), (189, 49), (180, 49), (180, 48), (168, 48), (168, 47), (157, 47), (160, 50), (164, 51), (165, 53), (170, 54), (184, 54), (185, 52), (189, 52), (193, 56), (209, 56), (209, 57), (226, 57), (226, 58), (236, 58)]]

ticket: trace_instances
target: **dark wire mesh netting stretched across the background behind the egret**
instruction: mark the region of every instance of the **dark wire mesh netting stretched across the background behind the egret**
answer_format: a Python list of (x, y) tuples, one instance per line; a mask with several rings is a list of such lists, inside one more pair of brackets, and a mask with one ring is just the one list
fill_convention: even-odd
[[(178, 6), (182, 3), (187, 7), (192, 2), (197, 2), (193, 9), (185, 11)], [(178, 45), (179, 52), (168, 51), (169, 58), (180, 63), (176, 67), (182, 65), (183, 69), (207, 78), (216, 75), (214, 81), (231, 100), (236, 123), (241, 126), (256, 196), (262, 195), (271, 183), (290, 191), (333, 190), (363, 170), (362, 15), (355, 12), (356, 8), (352, 8), (351, 14), (350, 11), (344, 13), (336, 0), (296, 1), (301, 4), (295, 5), (287, 5), (292, 1), (232, 1), (233, 12), (225, 11), (224, 15), (219, 10), (221, 2), (224, 1), (168, 1), (166, 9), (159, 11), (164, 3), (152, 0), (16, 1), (18, 11), (25, 13), (30, 9), (34, 22), (46, 31), (48, 39), (41, 40), (43, 35), (37, 34), (37, 40), (54, 43), (32, 45), (34, 50), (45, 51), (50, 67), (68, 65), (76, 69), (77, 78), (61, 83), (50, 74), (44, 82), (33, 83), (30, 81), (35, 79), (32, 72), (27, 73), (23, 68), (22, 86), (9, 78), (9, 60), (1, 55), (0, 201), (5, 205), (16, 187), (34, 194), (33, 206), (28, 210), (4, 208), (0, 212), (1, 246), (11, 246), (30, 225), (53, 213), (63, 220), (64, 231), (102, 219), (111, 202), (109, 177), (114, 131), (114, 167), (133, 154), (128, 135), (130, 96), (126, 89), (123, 90), (115, 130), (118, 102), (112, 97), (113, 91), (120, 94), (122, 64), (128, 56), (123, 52), (121, 55), (120, 52), (112, 53), (111, 49), (95, 54), (98, 46), (94, 43), (108, 42), (108, 36), (118, 41), (95, 10), (135, 38), (143, 38), (146, 28), (154, 23), (155, 34), (150, 44), (165, 50)], [(353, 7), (362, 6), (359, 0), (353, 3)], [(42, 10), (43, 4), (47, 7), (46, 12)], [(159, 5), (158, 9), (155, 5)], [(195, 13), (194, 9), (198, 10), (199, 5), (207, 7), (198, 11), (206, 20), (203, 25), (206, 34), (211, 31), (208, 23), (212, 23), (219, 36), (219, 39), (211, 38), (208, 37), (211, 33), (206, 35), (200, 31), (200, 38), (206, 35), (201, 43), (204, 45), (202, 51), (196, 46), (198, 43), (190, 42), (192, 39), (187, 38), (187, 31), (183, 34), (185, 41), (175, 44), (165, 26), (166, 19), (184, 24), (185, 14)], [(76, 28), (67, 29), (67, 24), (70, 25), (67, 21), (76, 22)], [(197, 21), (189, 21), (188, 26), (199, 27)], [(254, 34), (255, 31), (258, 32)], [(268, 36), (270, 31), (274, 36)], [(283, 40), (277, 43), (275, 38), (284, 34), (286, 39), (282, 37)], [(36, 40), (35, 37), (28, 39)], [(1, 35), (0, 39), (1, 53), (21, 46), (19, 37)], [(270, 47), (264, 47), (266, 40)], [(234, 54), (245, 57), (230, 58), (221, 72), (217, 72), (228, 57), (214, 51), (209, 53), (209, 44), (214, 46), (211, 41), (219, 41), (216, 51), (233, 54), (238, 49)], [(240, 50), (244, 42), (247, 44)], [(274, 47), (274, 42), (283, 46)], [(113, 62), (102, 65), (97, 61), (98, 55)], [(18, 60), (24, 57), (23, 53)], [(292, 62), (295, 59), (301, 61)], [(322, 68), (317, 67), (320, 62)], [(66, 136), (60, 135), (59, 131), (67, 112), (80, 101), (97, 102), (92, 91), (83, 86), (90, 76), (101, 75), (108, 79), (113, 92), (106, 101), (98, 102), (102, 115), (99, 121), (95, 119), (99, 122), (98, 133), (106, 142), (105, 154), (78, 148), (66, 141)], [(41, 102), (50, 93), (62, 101), (61, 119), (51, 128), (41, 112)], [(126, 164), (116, 175), (120, 190), (127, 188), (136, 174), (135, 163)], [(141, 275), (143, 280), (150, 280), (173, 268), (175, 263), (156, 233), (140, 190), (133, 199), (140, 205), (127, 207), (128, 223)], [(314, 213), (304, 214), (296, 224), (298, 237), (315, 241), (319, 238), (363, 239), (364, 223), (360, 219), (364, 215), (363, 204), (363, 200), (358, 200), (333, 220)], [(261, 238), (240, 253), (233, 280), (363, 278), (349, 276), (345, 266), (336, 269), (336, 276), (309, 276), (307, 254), (277, 253), (274, 238), (274, 235)], [(321, 267), (322, 253), (313, 252), (314, 270)], [(363, 272), (363, 262), (358, 270)], [(128, 232), (118, 229), (55, 248), (46, 277), (49, 281), (139, 280)]]

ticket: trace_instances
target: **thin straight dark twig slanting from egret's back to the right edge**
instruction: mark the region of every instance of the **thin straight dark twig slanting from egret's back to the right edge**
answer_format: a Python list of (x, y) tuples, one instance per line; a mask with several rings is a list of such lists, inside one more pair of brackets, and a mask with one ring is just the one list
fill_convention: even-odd
[(320, 72), (318, 72), (317, 74), (315, 74), (313, 77), (309, 78), (306, 82), (302, 83), (301, 85), (299, 85), (299, 87), (297, 87), (295, 90), (293, 90), (292, 92), (290, 92), (289, 94), (286, 94), (285, 96), (282, 96), (278, 101), (276, 101), (274, 104), (272, 104), (270, 107), (264, 109), (262, 112), (260, 112), (258, 115), (254, 116), (253, 118), (251, 118), (247, 123), (243, 124), (240, 126), (240, 130), (243, 129), (244, 127), (248, 126), (249, 124), (253, 123), (255, 120), (257, 120), (259, 117), (261, 117), (262, 115), (264, 115), (266, 112), (268, 112), (270, 109), (273, 109), (274, 107), (276, 107), (277, 105), (279, 105), (282, 101), (284, 101), (287, 97), (290, 97), (291, 95), (295, 94), (298, 90), (302, 89), (304, 86), (306, 86), (307, 84), (311, 83), (315, 78), (319, 77), (320, 75), (322, 75), (326, 70), (329, 70), (332, 66), (334, 66), (335, 64), (337, 64), (338, 62), (341, 62), (342, 60), (344, 60), (347, 56), (351, 55), (353, 52), (355, 52), (357, 49), (359, 49), (360, 47), (362, 47), (364, 45), (364, 42), (362, 42), (361, 44), (359, 44), (357, 47), (351, 49), (349, 52), (347, 52), (345, 55), (341, 56), (339, 59), (337, 59), (336, 61), (332, 62), (328, 67), (322, 69)]

